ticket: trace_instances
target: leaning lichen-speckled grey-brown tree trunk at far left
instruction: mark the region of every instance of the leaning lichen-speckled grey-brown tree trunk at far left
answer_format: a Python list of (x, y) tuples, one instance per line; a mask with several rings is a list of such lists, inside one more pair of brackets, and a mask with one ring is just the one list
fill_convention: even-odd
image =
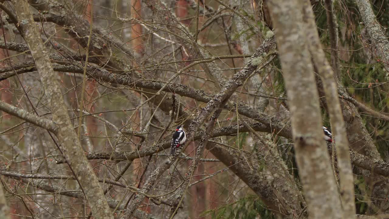
[(98, 180), (84, 156), (77, 134), (70, 123), (60, 85), (56, 80), (46, 48), (39, 37), (40, 33), (30, 11), (30, 5), (25, 0), (12, 2), (18, 5), (15, 7), (18, 29), (31, 50), (44, 90), (49, 97), (53, 121), (58, 125), (56, 136), (60, 143), (60, 150), (78, 178), (94, 217), (113, 218)]

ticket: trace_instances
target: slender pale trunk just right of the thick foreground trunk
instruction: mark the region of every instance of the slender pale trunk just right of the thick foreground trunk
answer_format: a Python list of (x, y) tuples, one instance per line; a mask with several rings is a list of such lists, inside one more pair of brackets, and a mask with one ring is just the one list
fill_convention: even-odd
[[(307, 30), (307, 42), (313, 62), (317, 67), (318, 73), (323, 78), (324, 92), (326, 94), (328, 113), (331, 127), (336, 138), (336, 155), (338, 158), (338, 167), (340, 171), (340, 194), (344, 209), (343, 218), (356, 218), (355, 216), (355, 197), (354, 197), (354, 176), (350, 161), (349, 141), (347, 140), (346, 126), (343, 120), (342, 108), (338, 98), (338, 89), (334, 73), (329, 65), (324, 51), (322, 50), (319, 34), (317, 32), (316, 22), (312, 6), (309, 0), (303, 4), (303, 20), (305, 30)], [(335, 64), (336, 62), (334, 62)]]

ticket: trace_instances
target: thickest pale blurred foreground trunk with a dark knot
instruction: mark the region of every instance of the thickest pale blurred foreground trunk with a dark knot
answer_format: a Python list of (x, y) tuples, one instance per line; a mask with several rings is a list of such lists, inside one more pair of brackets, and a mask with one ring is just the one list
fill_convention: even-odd
[[(291, 113), (296, 162), (310, 218), (340, 219), (342, 209), (325, 141), (319, 94), (303, 34), (302, 1), (268, 2)], [(318, 174), (320, 173), (320, 174)]]

